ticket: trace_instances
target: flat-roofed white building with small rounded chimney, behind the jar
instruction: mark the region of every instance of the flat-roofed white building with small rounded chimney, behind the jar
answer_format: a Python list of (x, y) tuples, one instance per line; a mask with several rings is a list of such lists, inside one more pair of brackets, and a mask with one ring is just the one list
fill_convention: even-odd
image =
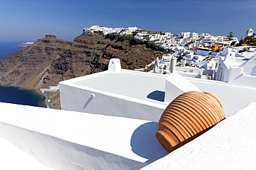
[(62, 81), (59, 86), (64, 110), (156, 122), (176, 96), (200, 91), (177, 73), (122, 70), (119, 59), (111, 59), (105, 72)]

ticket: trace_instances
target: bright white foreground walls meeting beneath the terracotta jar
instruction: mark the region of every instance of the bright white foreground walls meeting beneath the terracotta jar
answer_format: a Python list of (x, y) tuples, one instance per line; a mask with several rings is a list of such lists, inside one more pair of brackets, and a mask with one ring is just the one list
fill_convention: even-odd
[(167, 153), (156, 140), (156, 122), (10, 103), (0, 103), (0, 107), (0, 158), (4, 161), (1, 169), (254, 169), (256, 166), (256, 103), (172, 153)]

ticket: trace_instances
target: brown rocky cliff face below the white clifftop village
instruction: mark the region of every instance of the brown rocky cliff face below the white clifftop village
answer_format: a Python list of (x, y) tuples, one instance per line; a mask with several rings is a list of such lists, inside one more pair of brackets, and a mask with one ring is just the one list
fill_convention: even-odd
[[(151, 63), (162, 53), (153, 44), (133, 36), (103, 36), (95, 32), (65, 41), (46, 35), (29, 47), (0, 59), (0, 84), (39, 92), (40, 88), (69, 78), (107, 70), (111, 58), (119, 58), (122, 68), (134, 70)], [(51, 94), (53, 108), (60, 108), (57, 96)]]

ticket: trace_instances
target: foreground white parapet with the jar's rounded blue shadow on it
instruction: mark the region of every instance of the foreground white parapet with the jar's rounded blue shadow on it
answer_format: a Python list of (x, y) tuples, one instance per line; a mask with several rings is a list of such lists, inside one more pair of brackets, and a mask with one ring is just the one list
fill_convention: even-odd
[(156, 122), (10, 103), (0, 107), (0, 139), (53, 169), (139, 169), (167, 155), (154, 135)]

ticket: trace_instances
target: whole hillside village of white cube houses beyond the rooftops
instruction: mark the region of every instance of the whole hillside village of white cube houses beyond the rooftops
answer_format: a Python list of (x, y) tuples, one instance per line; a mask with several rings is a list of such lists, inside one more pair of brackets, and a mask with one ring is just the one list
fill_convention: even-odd
[[(184, 72), (190, 72), (193, 74), (188, 74), (188, 76), (208, 78), (229, 83), (233, 81), (240, 82), (241, 79), (239, 78), (246, 78), (247, 80), (247, 78), (250, 77), (245, 75), (254, 75), (254, 71), (249, 73), (245, 70), (246, 67), (248, 67), (246, 65), (254, 61), (253, 56), (256, 52), (255, 48), (230, 47), (231, 43), (233, 43), (233, 45), (238, 43), (237, 37), (212, 36), (210, 34), (198, 34), (195, 32), (180, 32), (178, 36), (169, 32), (152, 34), (151, 32), (143, 31), (136, 27), (106, 28), (93, 25), (91, 28), (84, 28), (84, 32), (95, 31), (103, 32), (103, 34), (133, 34), (133, 32), (136, 32), (135, 37), (137, 39), (158, 43), (160, 47), (164, 48), (167, 52), (160, 61), (155, 62), (158, 68), (155, 67), (154, 71), (157, 70), (156, 72), (160, 74), (168, 74), (172, 56), (175, 54), (176, 61), (181, 59), (179, 63), (176, 62), (177, 66), (192, 66), (177, 67), (176, 70), (183, 72), (181, 73), (183, 75)], [(256, 33), (251, 28), (246, 32), (246, 36), (255, 34)], [(243, 52), (241, 53), (241, 51)], [(149, 65), (151, 64), (152, 63)], [(145, 70), (145, 68), (139, 70)], [(236, 74), (235, 70), (237, 70)]]

